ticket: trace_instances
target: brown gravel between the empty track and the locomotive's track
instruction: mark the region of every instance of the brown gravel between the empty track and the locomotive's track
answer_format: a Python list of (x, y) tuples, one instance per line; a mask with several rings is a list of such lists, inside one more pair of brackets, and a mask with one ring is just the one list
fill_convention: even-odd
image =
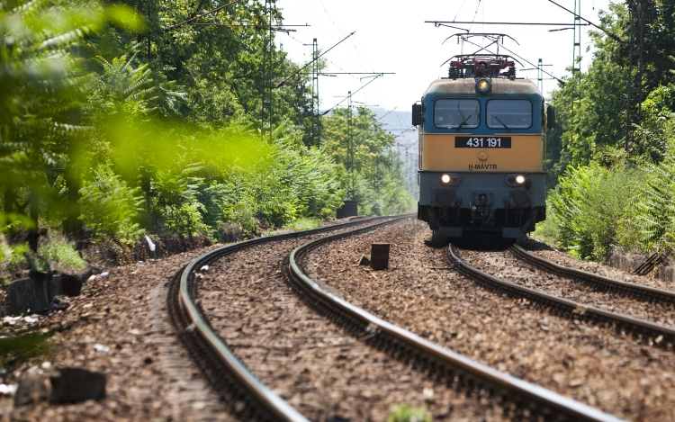
[[(483, 364), (621, 418), (675, 420), (675, 354), (482, 290), (442, 269), (428, 238), (424, 224), (401, 223), (322, 247), (307, 266), (345, 300)], [(389, 270), (356, 265), (372, 242), (392, 244)]]

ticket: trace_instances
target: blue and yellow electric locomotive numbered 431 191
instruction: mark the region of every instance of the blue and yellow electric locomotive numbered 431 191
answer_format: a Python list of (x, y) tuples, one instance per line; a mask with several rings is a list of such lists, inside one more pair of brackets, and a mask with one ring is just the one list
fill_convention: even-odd
[(554, 110), (516, 59), (457, 55), (412, 106), (418, 219), (441, 238), (524, 238), (545, 220), (546, 130)]

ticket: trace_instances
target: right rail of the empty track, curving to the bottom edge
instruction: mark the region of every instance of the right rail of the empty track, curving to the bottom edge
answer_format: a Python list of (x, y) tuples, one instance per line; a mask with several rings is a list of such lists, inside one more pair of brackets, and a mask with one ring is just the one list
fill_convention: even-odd
[(409, 330), (391, 324), (362, 310), (334, 294), (323, 290), (311, 280), (300, 262), (316, 248), (356, 233), (343, 233), (313, 240), (293, 250), (289, 257), (289, 272), (293, 283), (303, 299), (330, 319), (347, 327), (355, 336), (372, 334), (368, 343), (390, 355), (419, 367), (420, 370), (458, 389), (469, 389), (487, 393), (500, 400), (510, 401), (518, 406), (519, 417), (544, 418), (544, 420), (620, 420), (590, 408), (578, 401), (570, 400), (554, 391), (548, 391), (525, 382), (507, 373), (501, 373), (490, 366), (480, 364), (464, 355), (438, 346)]

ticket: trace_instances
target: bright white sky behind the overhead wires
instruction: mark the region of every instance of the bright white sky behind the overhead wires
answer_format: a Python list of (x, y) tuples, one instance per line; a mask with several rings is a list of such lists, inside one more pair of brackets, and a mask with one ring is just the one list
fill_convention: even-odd
[[(566, 5), (565, 3), (569, 3), (569, 1), (572, 0), (568, 1), (555, 0), (555, 1), (557, 3)], [(605, 6), (605, 3), (607, 1), (608, 0), (597, 1), (596, 11), (599, 10), (599, 8), (608, 10)], [(284, 2), (286, 7), (284, 7)], [(437, 77), (446, 76), (446, 72), (444, 72), (444, 69), (437, 68), (437, 65), (440, 64), (440, 62), (442, 62), (443, 60), (445, 60), (445, 58), (443, 58), (442, 60), (429, 59), (437, 55), (439, 51), (434, 48), (437, 47), (436, 44), (444, 40), (446, 37), (444, 36), (440, 40), (437, 40), (438, 42), (424, 43), (425, 45), (423, 46), (423, 48), (420, 45), (417, 46), (415, 45), (418, 36), (424, 37), (425, 40), (431, 40), (428, 37), (428, 32), (432, 28), (428, 26), (428, 23), (427, 24), (422, 23), (420, 25), (420, 22), (424, 22), (425, 20), (452, 22), (454, 20), (453, 18), (455, 18), (456, 15), (455, 22), (471, 22), (475, 14), (475, 20), (473, 21), (473, 27), (475, 28), (475, 30), (472, 31), (482, 31), (482, 27), (478, 23), (483, 22), (499, 23), (502, 21), (503, 22), (510, 21), (510, 22), (529, 23), (528, 21), (536, 21), (535, 23), (541, 22), (541, 23), (561, 24), (567, 25), (566, 27), (571, 27), (570, 25), (573, 22), (572, 16), (570, 16), (569, 13), (558, 8), (554, 4), (548, 4), (548, 2), (536, 2), (537, 4), (533, 6), (535, 7), (535, 9), (533, 10), (537, 10), (538, 12), (541, 13), (532, 14), (532, 16), (539, 16), (539, 17), (538, 18), (532, 17), (531, 19), (529, 19), (528, 17), (519, 18), (518, 13), (510, 14), (511, 13), (510, 10), (507, 10), (505, 6), (502, 7), (502, 4), (496, 4), (496, 2), (482, 2), (482, 5), (479, 6), (478, 8), (478, 13), (482, 13), (484, 8), (484, 17), (483, 16), (479, 17), (477, 13), (475, 13), (477, 4), (479, 4), (478, 0), (472, 1), (462, 0), (451, 3), (439, 4), (440, 6), (439, 8), (429, 8), (428, 4), (424, 4), (416, 8), (414, 14), (406, 13), (409, 14), (410, 19), (413, 18), (415, 19), (414, 22), (415, 30), (410, 31), (410, 34), (405, 34), (404, 36), (401, 36), (401, 33), (408, 32), (407, 30), (409, 28), (410, 29), (413, 28), (412, 22), (410, 22), (411, 23), (410, 26), (405, 26), (404, 22), (401, 22), (399, 17), (390, 16), (389, 15), (390, 11), (372, 6), (369, 3), (370, 2), (367, 2), (366, 4), (362, 4), (362, 6), (359, 7), (360, 10), (362, 10), (363, 16), (361, 16), (359, 19), (353, 17), (353, 19), (350, 20), (351, 19), (349, 17), (350, 14), (347, 13), (347, 10), (344, 10), (344, 8), (340, 8), (338, 5), (339, 2), (336, 2), (335, 0), (321, 0), (320, 2), (316, 1), (310, 2), (309, 0), (280, 1), (280, 4), (282, 4), (284, 10), (285, 22), (289, 23), (309, 22), (312, 25), (312, 28), (307, 29), (303, 28), (298, 29), (297, 32), (292, 32), (291, 35), (293, 42), (285, 41), (288, 45), (289, 58), (293, 58), (293, 60), (296, 61), (296, 63), (299, 63), (299, 66), (302, 66), (303, 64), (311, 60), (311, 49), (307, 49), (303, 52), (303, 49), (300, 48), (298, 45), (300, 44), (300, 42), (297, 40), (302, 40), (303, 42), (311, 43), (311, 36), (318, 36), (320, 37), (319, 39), (320, 41), (322, 41), (323, 39), (323, 42), (320, 42), (320, 44), (324, 44), (325, 47), (329, 47), (334, 42), (345, 36), (345, 35), (338, 35), (338, 28), (336, 28), (336, 25), (333, 24), (334, 22), (338, 25), (338, 27), (344, 29), (344, 31), (350, 32), (356, 30), (356, 34), (351, 39), (343, 42), (340, 45), (339, 49), (336, 48), (332, 50), (329, 54), (320, 59), (320, 62), (323, 65), (321, 70), (322, 76), (324, 76), (323, 74), (334, 74), (340, 76), (340, 78), (333, 78), (333, 79), (325, 79), (325, 78), (321, 79), (320, 76), (322, 84), (321, 107), (320, 107), (321, 111), (328, 109), (331, 105), (337, 103), (342, 99), (342, 98), (335, 98), (334, 100), (333, 97), (344, 96), (347, 93), (348, 89), (350, 88), (354, 89), (358, 87), (359, 84), (352, 83), (351, 80), (357, 79), (359, 75), (347, 75), (347, 74), (352, 72), (356, 73), (357, 71), (370, 70), (370, 68), (368, 67), (369, 63), (373, 65), (374, 71), (391, 70), (392, 72), (396, 72), (397, 76), (388, 77), (387, 79), (381, 79), (375, 82), (374, 84), (369, 85), (367, 88), (365, 88), (365, 90), (355, 94), (355, 100), (365, 101), (367, 103), (379, 103), (382, 104), (383, 107), (388, 110), (391, 110), (394, 106), (398, 106), (399, 110), (407, 109), (408, 108), (407, 103), (410, 101), (407, 99), (417, 99), (420, 95), (419, 93), (421, 93), (422, 90), (426, 88), (425, 85), (426, 83), (420, 81), (432, 80)], [(429, 5), (430, 3), (431, 2), (429, 2)], [(590, 14), (590, 1), (587, 0), (585, 3), (587, 4), (584, 4), (584, 6), (586, 7), (581, 10), (581, 15), (589, 18), (593, 22), (598, 23), (600, 26), (608, 27), (608, 29), (611, 30), (612, 27), (605, 25), (602, 22), (599, 22), (597, 15)], [(464, 7), (458, 13), (458, 10), (462, 5), (464, 5)], [(572, 4), (570, 4), (570, 8), (572, 9)], [(331, 19), (329, 19), (329, 16), (327, 15), (325, 9), (327, 9), (327, 12), (330, 14), (332, 22)], [(425, 11), (425, 9), (428, 10)], [(473, 9), (474, 13), (472, 13), (471, 9)], [(587, 9), (589, 10), (588, 12)], [(440, 14), (436, 13), (436, 11), (439, 11)], [(446, 14), (446, 16), (443, 16), (443, 14)], [(369, 21), (368, 17), (374, 15), (381, 16), (382, 19), (386, 21), (386, 23), (383, 23), (383, 25), (379, 24), (374, 25), (372, 22), (368, 22)], [(360, 20), (364, 21), (363, 22), (364, 25), (370, 24), (370, 27), (364, 29), (362, 28), (362, 26), (356, 26), (361, 25)], [(450, 23), (450, 25), (452, 25), (452, 23)], [(353, 27), (350, 28), (349, 26)], [(419, 29), (420, 26), (427, 26), (427, 28)], [(468, 28), (469, 25), (457, 24), (455, 26), (456, 27), (462, 26), (464, 29)], [(587, 22), (581, 21), (580, 26), (584, 32), (590, 30), (599, 31), (596, 30), (595, 28), (590, 27), (590, 25)], [(567, 42), (564, 42), (564, 46), (561, 46), (560, 44), (563, 44), (562, 41), (563, 40), (566, 41), (568, 36), (569, 38), (572, 38), (572, 36), (569, 33), (567, 33), (567, 35), (564, 34), (554, 35), (559, 34), (559, 32), (552, 32), (550, 34), (548, 32), (549, 30), (562, 29), (563, 27), (565, 26), (504, 25), (502, 28), (503, 31), (500, 30), (498, 32), (505, 32), (509, 33), (510, 35), (513, 35), (518, 39), (519, 42), (521, 42), (521, 44), (525, 46), (525, 47), (512, 46), (509, 47), (509, 49), (513, 49), (513, 51), (518, 51), (518, 54), (523, 55), (526, 58), (532, 58), (529, 61), (531, 61), (535, 65), (536, 59), (538, 57), (543, 57), (545, 63), (554, 64), (554, 67), (547, 67), (547, 68), (545, 67), (545, 69), (554, 76), (560, 75), (558, 76), (558, 79), (554, 80), (560, 80), (562, 78), (563, 80), (568, 81), (569, 73), (566, 72), (566, 68), (570, 67), (569, 63), (567, 63), (569, 61), (569, 58), (565, 60), (565, 63), (562, 63), (563, 61), (561, 59), (562, 55), (557, 54), (556, 51), (562, 51), (563, 48), (566, 50)], [(401, 31), (401, 29), (403, 28), (405, 28), (406, 31)], [(486, 32), (494, 31), (495, 29), (498, 28), (499, 25), (485, 24), (485, 30), (487, 30)], [(541, 34), (537, 33), (535, 35), (518, 36), (518, 34), (521, 32), (531, 32), (531, 31), (538, 31), (541, 32)], [(430, 32), (431, 35), (434, 36), (434, 31)], [(359, 35), (359, 33), (361, 35)], [(446, 34), (450, 33), (454, 32), (453, 31), (446, 32)], [(372, 40), (379, 38), (380, 35), (382, 35), (383, 37), (383, 42), (381, 42), (378, 46), (373, 46)], [(520, 37), (522, 37), (523, 40), (520, 40)], [(279, 37), (277, 38), (277, 40), (283, 41), (284, 38), (285, 37)], [(356, 38), (359, 38), (359, 40), (356, 40)], [(482, 41), (480, 40), (475, 41), (478, 42), (479, 44), (484, 45), (488, 44), (488, 42), (482, 43)], [(570, 42), (571, 41), (572, 40), (570, 40)], [(588, 39), (584, 40), (584, 42), (588, 43)], [(447, 47), (447, 44), (448, 42), (446, 42), (446, 46), (442, 48), (441, 54), (444, 54), (446, 51), (447, 52), (455, 51), (454, 46), (451, 45)], [(507, 44), (509, 43), (507, 42)], [(277, 45), (279, 45), (278, 42)], [(366, 50), (361, 49), (361, 46), (363, 46), (363, 48), (365, 48)], [(591, 45), (590, 48), (593, 49), (593, 46)], [(423, 56), (419, 54), (422, 50), (424, 50)], [(388, 55), (383, 54), (384, 52), (390, 51), (392, 54)], [(412, 69), (410, 64), (408, 63), (399, 64), (396, 62), (397, 61), (396, 58), (399, 55), (401, 55), (401, 61), (402, 60), (410, 61), (410, 58), (404, 57), (406, 57), (407, 53), (411, 51), (417, 51), (416, 55), (418, 56), (418, 58), (416, 58), (415, 61), (419, 62), (418, 69)], [(534, 52), (534, 54), (532, 54), (531, 51)], [(506, 50), (500, 50), (500, 52), (503, 54), (509, 54), (506, 52)], [(555, 56), (551, 57), (551, 54), (554, 54)], [(448, 54), (448, 57), (451, 55), (452, 54)], [(368, 60), (365, 59), (366, 57), (368, 58)], [(566, 56), (564, 58), (566, 58)], [(431, 62), (429, 63), (429, 61)], [(435, 61), (437, 61), (437, 64), (434, 63)], [(586, 60), (584, 60), (584, 67), (586, 67), (587, 65), (585, 61)], [(365, 67), (362, 66), (361, 63), (363, 63)], [(378, 65), (378, 63), (380, 64)], [(383, 66), (383, 63), (390, 63), (390, 65)], [(529, 66), (524, 61), (522, 61), (522, 63), (525, 65), (525, 67), (534, 67)], [(345, 76), (347, 77), (344, 77), (342, 73), (338, 73), (342, 72), (342, 70), (340, 70), (338, 67), (344, 69)], [(391, 68), (387, 69), (386, 67)], [(393, 67), (396, 68), (394, 69)], [(516, 64), (516, 67), (518, 69), (521, 68), (521, 66), (519, 66), (518, 63)], [(297, 68), (297, 66), (295, 68)], [(310, 69), (311, 67), (307, 67), (305, 71), (309, 71)], [(335, 73), (330, 72), (331, 70), (335, 71)], [(286, 75), (282, 75), (281, 77), (276, 79), (275, 85), (285, 76)], [(523, 73), (520, 74), (520, 76), (534, 78), (536, 74)], [(297, 79), (297, 77), (298, 76), (295, 76), (292, 80)], [(548, 78), (551, 76), (545, 77)], [(287, 82), (286, 85), (288, 85), (289, 83), (290, 81)], [(397, 85), (401, 87), (401, 89), (397, 89)], [(554, 90), (556, 86), (558, 86), (557, 83), (554, 84), (550, 81), (545, 81), (546, 91)], [(396, 93), (397, 91), (398, 94), (395, 95), (394, 93)], [(344, 107), (345, 104), (346, 103), (342, 103), (340, 106)]]

